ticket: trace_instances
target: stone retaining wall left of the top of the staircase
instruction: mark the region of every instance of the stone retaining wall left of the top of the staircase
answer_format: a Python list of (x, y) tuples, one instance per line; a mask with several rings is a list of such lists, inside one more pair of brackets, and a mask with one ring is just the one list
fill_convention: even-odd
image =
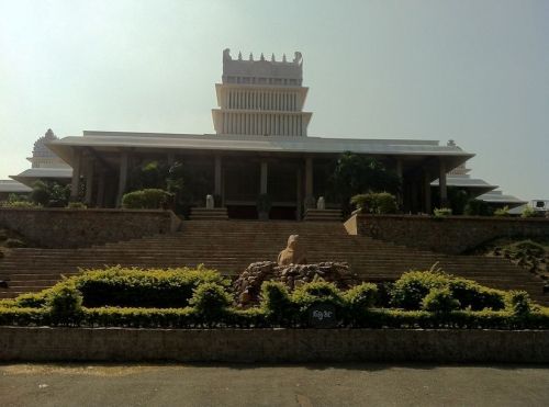
[(171, 211), (0, 208), (0, 226), (46, 248), (77, 248), (175, 231)]

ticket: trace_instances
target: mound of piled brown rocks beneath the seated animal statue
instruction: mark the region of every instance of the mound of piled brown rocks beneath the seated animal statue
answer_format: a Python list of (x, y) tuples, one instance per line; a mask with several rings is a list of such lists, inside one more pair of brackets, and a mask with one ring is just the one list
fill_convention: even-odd
[(334, 283), (340, 290), (359, 284), (360, 279), (350, 272), (348, 263), (322, 262), (316, 264), (278, 265), (274, 261), (251, 263), (234, 282), (238, 303), (257, 304), (264, 281), (279, 281), (293, 291), (315, 279)]

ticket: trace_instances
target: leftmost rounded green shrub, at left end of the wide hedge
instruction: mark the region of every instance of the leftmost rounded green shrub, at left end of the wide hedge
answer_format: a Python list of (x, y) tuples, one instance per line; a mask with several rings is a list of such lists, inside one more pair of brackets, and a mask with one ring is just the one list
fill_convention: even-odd
[(49, 290), (46, 306), (49, 307), (54, 324), (79, 324), (82, 316), (82, 294), (72, 282), (64, 281)]

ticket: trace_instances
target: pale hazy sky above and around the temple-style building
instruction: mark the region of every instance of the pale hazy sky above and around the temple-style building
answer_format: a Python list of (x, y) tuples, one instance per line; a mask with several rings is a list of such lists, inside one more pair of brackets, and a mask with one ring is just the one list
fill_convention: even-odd
[(456, 139), (549, 199), (549, 1), (0, 0), (0, 178), (48, 127), (213, 133), (222, 50), (303, 53), (309, 134)]

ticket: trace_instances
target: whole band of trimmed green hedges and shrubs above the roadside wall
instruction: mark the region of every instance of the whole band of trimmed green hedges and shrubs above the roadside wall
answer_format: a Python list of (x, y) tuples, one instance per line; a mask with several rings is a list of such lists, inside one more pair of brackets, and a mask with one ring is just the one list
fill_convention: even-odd
[[(534, 304), (526, 292), (494, 291), (436, 271), (405, 273), (389, 291), (393, 302), (422, 309), (377, 306), (380, 290), (371, 283), (341, 292), (324, 281), (303, 284), (293, 293), (281, 283), (265, 282), (259, 307), (236, 309), (227, 285), (217, 272), (204, 268), (116, 267), (1, 301), (0, 325), (304, 328), (311, 307), (328, 304), (336, 310), (337, 327), (549, 329), (549, 308)], [(90, 306), (93, 302), (100, 306)]]

